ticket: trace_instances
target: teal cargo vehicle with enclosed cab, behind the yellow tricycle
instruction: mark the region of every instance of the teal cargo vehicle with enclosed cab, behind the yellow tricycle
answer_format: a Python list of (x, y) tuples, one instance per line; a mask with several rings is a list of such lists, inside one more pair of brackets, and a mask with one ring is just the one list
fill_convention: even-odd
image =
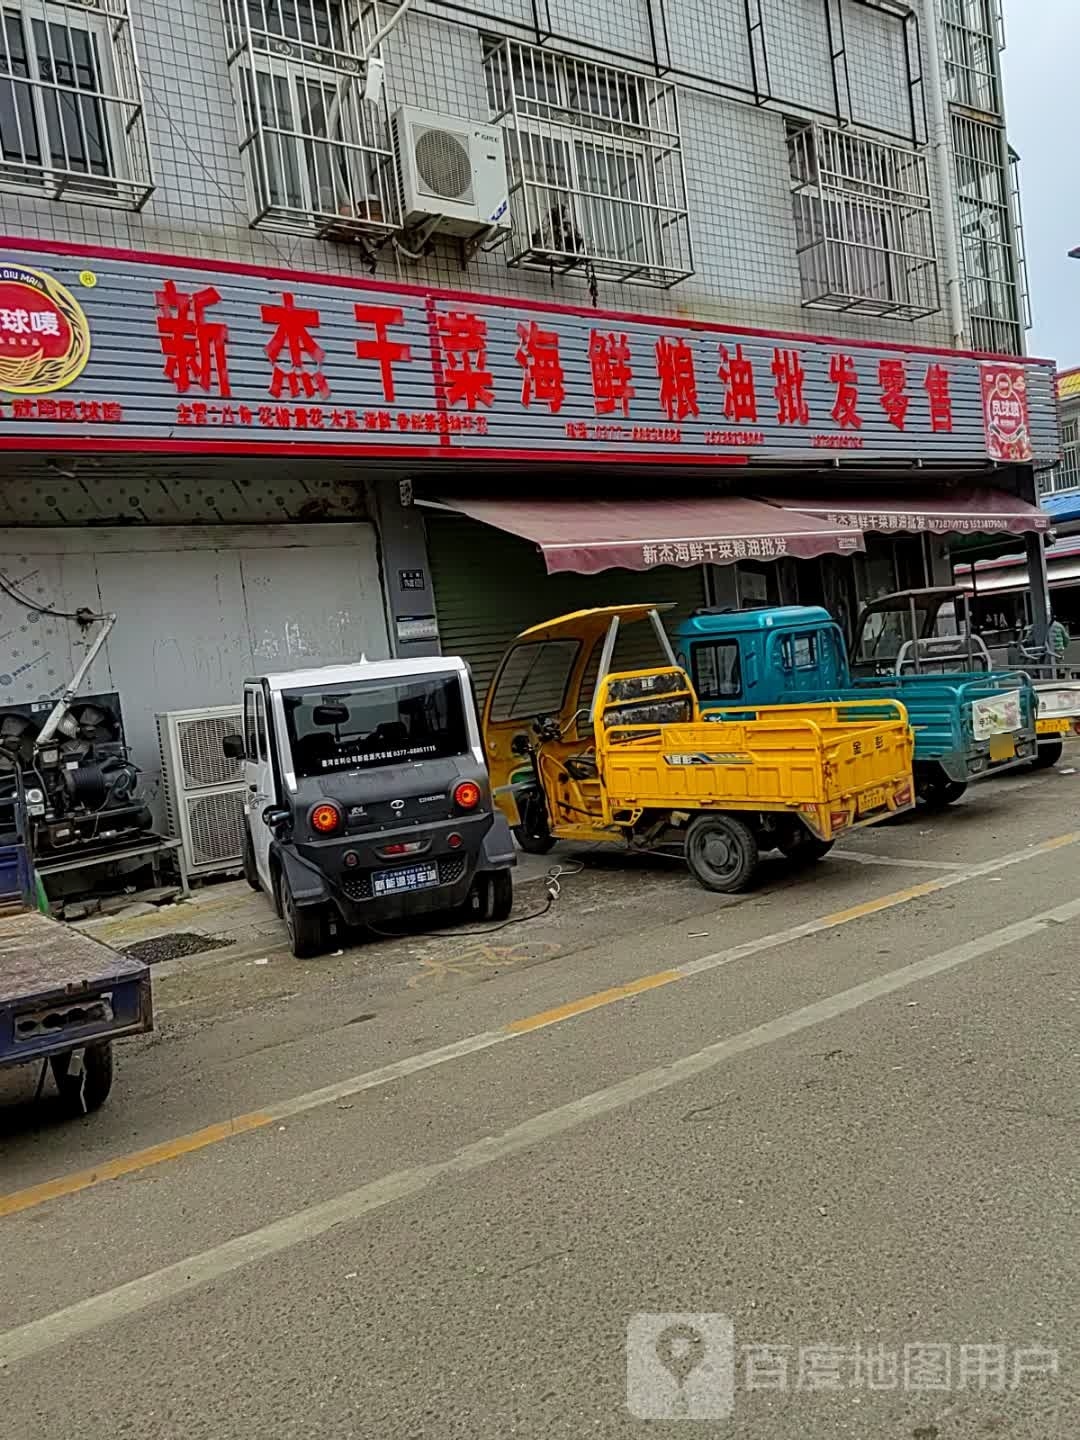
[(1027, 675), (914, 672), (909, 649), (900, 672), (852, 678), (844, 635), (816, 606), (698, 611), (680, 626), (675, 648), (704, 719), (737, 719), (740, 706), (900, 700), (914, 730), (916, 792), (930, 808), (943, 809), (972, 780), (1035, 756)]

